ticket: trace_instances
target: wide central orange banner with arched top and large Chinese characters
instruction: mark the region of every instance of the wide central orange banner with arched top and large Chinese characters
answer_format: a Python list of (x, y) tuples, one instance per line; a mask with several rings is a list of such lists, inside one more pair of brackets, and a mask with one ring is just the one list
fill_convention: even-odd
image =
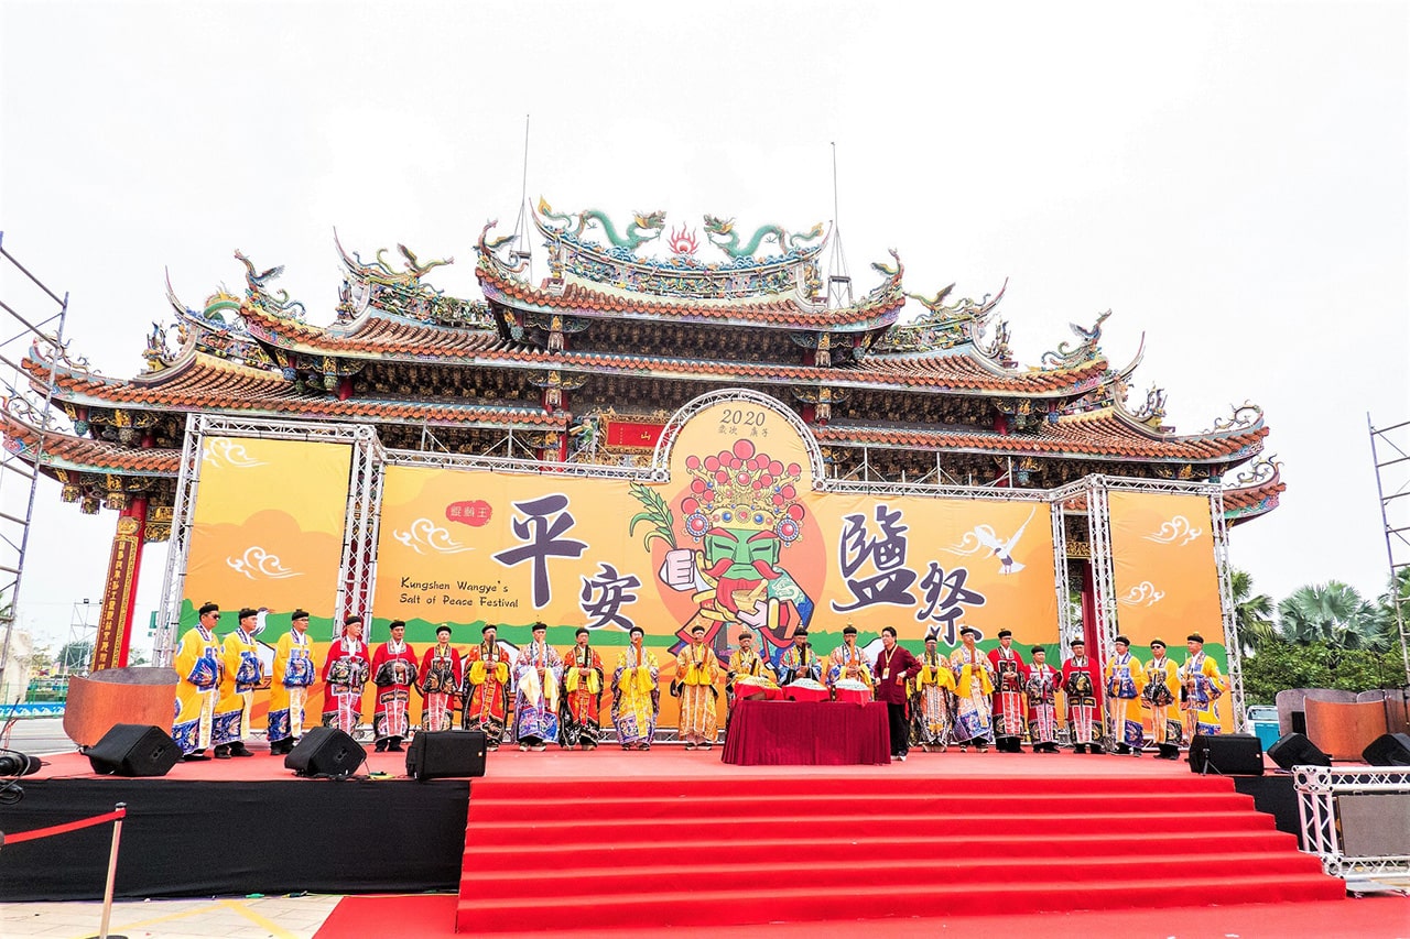
[(375, 627), (519, 643), (543, 620), (560, 647), (577, 626), (620, 647), (642, 626), (666, 653), (701, 625), (722, 658), (749, 629), (777, 660), (804, 626), (825, 654), (847, 623), (864, 647), (894, 626), (949, 650), (963, 625), (1056, 646), (1045, 502), (821, 493), (812, 472), (790, 416), (753, 400), (691, 417), (664, 484), (391, 465)]

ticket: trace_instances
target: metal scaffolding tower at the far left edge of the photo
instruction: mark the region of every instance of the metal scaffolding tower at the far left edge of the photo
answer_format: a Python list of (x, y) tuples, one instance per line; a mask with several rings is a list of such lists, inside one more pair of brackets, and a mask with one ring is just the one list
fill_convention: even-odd
[[(3, 687), (3, 675), (10, 664), (10, 640), (20, 610), (20, 585), (30, 547), (34, 498), (39, 486), (38, 467), (47, 436), (58, 430), (52, 415), (54, 374), (59, 357), (63, 355), (63, 324), (69, 313), (69, 295), (61, 297), (25, 269), (6, 250), (3, 231), (0, 231), (0, 258), (6, 262), (0, 266), (0, 272), (17, 271), (24, 276), (18, 290), (6, 283), (6, 296), (0, 299), (0, 364), (6, 369), (0, 375), (0, 393), (4, 396), (3, 406), (10, 419), (27, 427), (34, 436), (32, 443), (10, 437), (0, 450), (0, 630), (4, 632), (4, 639), (0, 642), (0, 698), (18, 701), (24, 688)], [(48, 316), (30, 316), (18, 309), (31, 303), (48, 309), (51, 302), (58, 312)], [(34, 393), (34, 378), (20, 368), (20, 360), (25, 355), (47, 369), (42, 395)]]

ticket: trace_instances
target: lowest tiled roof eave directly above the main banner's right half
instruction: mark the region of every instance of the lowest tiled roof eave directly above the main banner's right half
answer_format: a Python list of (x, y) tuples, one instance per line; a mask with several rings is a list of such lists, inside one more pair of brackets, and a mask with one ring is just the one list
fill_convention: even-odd
[(1249, 430), (1224, 441), (1206, 438), (1148, 438), (1114, 426), (1111, 415), (1087, 422), (1063, 419), (1058, 426), (1043, 423), (1034, 434), (1000, 434), (980, 430), (932, 430), (919, 427), (880, 427), (846, 420), (816, 427), (819, 441), (864, 444), (895, 450), (943, 450), (1069, 460), (1108, 460), (1114, 462), (1169, 462), (1227, 467), (1244, 462), (1262, 451), (1266, 429)]

